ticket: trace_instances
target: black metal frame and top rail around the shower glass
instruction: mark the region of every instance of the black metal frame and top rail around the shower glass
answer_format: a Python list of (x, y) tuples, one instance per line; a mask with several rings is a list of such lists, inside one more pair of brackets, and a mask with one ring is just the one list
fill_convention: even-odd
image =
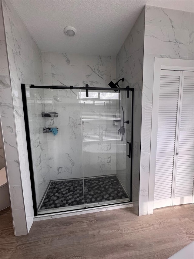
[[(39, 88), (39, 89), (72, 89), (72, 90), (86, 90), (87, 92), (89, 90), (107, 90), (107, 91), (126, 91), (127, 97), (129, 97), (129, 91), (132, 92), (132, 118), (131, 118), (131, 193), (130, 193), (130, 202), (132, 202), (132, 158), (133, 158), (133, 106), (134, 106), (134, 88), (108, 88), (108, 87), (79, 87), (79, 86), (47, 86), (47, 85), (34, 85), (31, 84), (29, 86), (30, 88)], [(29, 128), (29, 121), (28, 121), (28, 107), (27, 107), (27, 99), (26, 99), (26, 87), (24, 83), (21, 83), (21, 90), (22, 90), (22, 102), (23, 102), (23, 110), (24, 110), (24, 121), (25, 121), (25, 132), (26, 132), (26, 141), (27, 141), (27, 150), (28, 150), (28, 161), (29, 161), (29, 170), (30, 170), (30, 182), (31, 182), (31, 188), (32, 188), (32, 202), (33, 202), (33, 209), (34, 209), (34, 216), (38, 216), (37, 206), (36, 206), (36, 194), (35, 194), (35, 181), (34, 181), (34, 170), (33, 170), (33, 163), (32, 163), (32, 149), (31, 149), (31, 141), (30, 141), (30, 128)], [(126, 202), (121, 202), (119, 204), (124, 204)], [(113, 203), (111, 205), (118, 205), (118, 203)], [(95, 208), (95, 207), (102, 207), (105, 205), (99, 205), (94, 207), (88, 207), (88, 208)], [(108, 205), (106, 205), (108, 206)], [(85, 207), (86, 209), (86, 207)], [(77, 209), (82, 210), (82, 209)], [(75, 210), (68, 210), (75, 211)], [(55, 213), (55, 212), (53, 212)], [(45, 215), (48, 213), (44, 213), (41, 215)], [(51, 214), (51, 213), (49, 213)]]

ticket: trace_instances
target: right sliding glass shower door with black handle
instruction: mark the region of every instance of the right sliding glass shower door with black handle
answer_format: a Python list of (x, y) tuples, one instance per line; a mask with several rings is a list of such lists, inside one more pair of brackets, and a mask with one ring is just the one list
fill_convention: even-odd
[(81, 90), (86, 207), (130, 201), (131, 98), (126, 91), (90, 88), (87, 97)]

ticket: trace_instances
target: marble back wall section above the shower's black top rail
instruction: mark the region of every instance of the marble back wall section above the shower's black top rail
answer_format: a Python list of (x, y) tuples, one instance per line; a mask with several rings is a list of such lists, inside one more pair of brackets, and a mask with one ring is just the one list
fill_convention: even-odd
[(72, 53), (42, 53), (43, 82), (46, 85), (109, 87), (115, 80), (115, 57)]

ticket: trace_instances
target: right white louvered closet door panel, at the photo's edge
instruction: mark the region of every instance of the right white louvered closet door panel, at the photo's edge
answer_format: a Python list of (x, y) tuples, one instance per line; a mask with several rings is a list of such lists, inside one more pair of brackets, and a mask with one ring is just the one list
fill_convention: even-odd
[(194, 77), (182, 72), (181, 102), (173, 205), (193, 202), (194, 166)]

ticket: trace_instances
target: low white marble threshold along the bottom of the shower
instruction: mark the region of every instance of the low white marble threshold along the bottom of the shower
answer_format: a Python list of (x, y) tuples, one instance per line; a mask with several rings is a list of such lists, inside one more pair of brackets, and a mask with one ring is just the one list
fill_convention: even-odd
[(33, 221), (56, 219), (56, 218), (76, 216), (76, 215), (82, 215), (82, 214), (87, 214), (87, 213), (95, 213), (95, 212), (105, 211), (105, 210), (116, 210), (116, 209), (122, 209), (122, 208), (128, 208), (128, 207), (133, 207), (133, 203), (128, 202), (128, 203), (124, 203), (124, 204), (99, 206), (99, 207), (95, 207), (95, 208), (87, 208), (87, 209), (82, 209), (82, 210), (48, 213), (45, 215), (35, 216), (33, 218)]

